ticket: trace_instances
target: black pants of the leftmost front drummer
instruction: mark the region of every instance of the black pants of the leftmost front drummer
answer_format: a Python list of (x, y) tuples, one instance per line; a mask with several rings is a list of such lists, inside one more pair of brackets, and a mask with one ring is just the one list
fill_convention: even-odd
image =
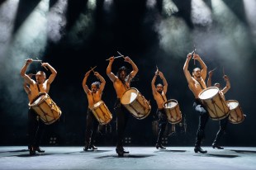
[(28, 110), (28, 147), (38, 148), (45, 132), (45, 123), (32, 109)]

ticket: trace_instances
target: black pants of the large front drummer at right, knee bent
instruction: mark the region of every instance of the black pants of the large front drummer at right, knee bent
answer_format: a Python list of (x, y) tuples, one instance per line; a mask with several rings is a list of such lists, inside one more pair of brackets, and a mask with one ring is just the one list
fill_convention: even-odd
[(198, 123), (197, 138), (196, 138), (195, 146), (200, 146), (201, 140), (205, 139), (206, 137), (205, 129), (206, 129), (206, 123), (209, 120), (209, 114), (199, 99), (196, 99), (196, 101), (193, 103), (193, 107), (199, 115), (199, 123)]

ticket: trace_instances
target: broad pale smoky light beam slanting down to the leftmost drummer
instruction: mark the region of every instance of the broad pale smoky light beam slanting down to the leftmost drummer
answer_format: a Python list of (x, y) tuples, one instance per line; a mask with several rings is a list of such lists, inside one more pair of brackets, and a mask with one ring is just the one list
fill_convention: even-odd
[[(12, 42), (8, 45), (5, 54), (2, 75), (12, 75), (5, 78), (6, 84), (12, 84), (7, 88), (6, 97), (9, 101), (16, 101), (21, 92), (21, 76), (19, 75), (24, 59), (36, 57), (40, 58), (44, 53), (47, 40), (47, 12), (49, 11), (49, 0), (42, 0), (37, 7), (26, 18), (22, 25), (12, 37)], [(38, 64), (40, 67), (40, 64)], [(26, 98), (21, 101), (26, 101)]]

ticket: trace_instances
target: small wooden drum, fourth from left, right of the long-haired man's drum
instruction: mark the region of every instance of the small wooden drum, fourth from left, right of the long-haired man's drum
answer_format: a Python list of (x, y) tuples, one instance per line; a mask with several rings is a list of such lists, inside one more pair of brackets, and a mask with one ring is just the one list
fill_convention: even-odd
[[(176, 105), (168, 107), (168, 103), (176, 103)], [(164, 102), (163, 106), (169, 123), (178, 124), (183, 119), (182, 112), (180, 111), (178, 102), (175, 99), (170, 99)]]

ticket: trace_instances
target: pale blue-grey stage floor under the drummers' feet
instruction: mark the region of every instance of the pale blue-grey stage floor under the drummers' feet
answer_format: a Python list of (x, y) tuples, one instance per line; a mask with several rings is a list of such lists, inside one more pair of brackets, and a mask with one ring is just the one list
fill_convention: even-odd
[(194, 153), (193, 147), (125, 147), (119, 158), (115, 147), (42, 147), (45, 153), (30, 156), (26, 146), (0, 147), (0, 169), (256, 169), (255, 147), (225, 147)]

